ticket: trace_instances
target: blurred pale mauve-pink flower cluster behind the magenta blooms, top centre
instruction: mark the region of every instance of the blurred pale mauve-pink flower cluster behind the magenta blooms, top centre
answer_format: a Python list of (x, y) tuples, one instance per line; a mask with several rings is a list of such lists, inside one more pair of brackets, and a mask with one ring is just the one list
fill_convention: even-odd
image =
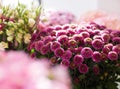
[(47, 26), (64, 25), (75, 22), (75, 16), (65, 11), (47, 11), (41, 15), (41, 21)]

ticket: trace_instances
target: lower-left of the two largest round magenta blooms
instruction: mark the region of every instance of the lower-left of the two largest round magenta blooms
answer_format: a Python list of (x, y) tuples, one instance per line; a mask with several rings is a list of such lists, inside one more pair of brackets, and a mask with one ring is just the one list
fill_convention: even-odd
[(93, 55), (93, 51), (91, 48), (89, 47), (84, 47), (82, 50), (81, 50), (81, 55), (84, 57), (84, 58), (91, 58), (92, 55)]

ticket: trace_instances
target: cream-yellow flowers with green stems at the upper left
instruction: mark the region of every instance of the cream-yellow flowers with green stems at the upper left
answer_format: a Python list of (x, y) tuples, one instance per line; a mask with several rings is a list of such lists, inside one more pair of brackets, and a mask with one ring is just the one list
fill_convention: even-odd
[(35, 30), (37, 16), (38, 8), (27, 9), (22, 4), (15, 8), (2, 6), (0, 9), (0, 47), (14, 49), (28, 44)]

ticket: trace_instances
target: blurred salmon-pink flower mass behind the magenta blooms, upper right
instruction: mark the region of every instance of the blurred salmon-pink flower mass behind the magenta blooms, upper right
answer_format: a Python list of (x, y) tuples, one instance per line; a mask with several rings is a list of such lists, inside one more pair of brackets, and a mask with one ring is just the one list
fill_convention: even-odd
[(83, 22), (95, 22), (100, 25), (105, 25), (109, 29), (120, 30), (120, 16), (100, 10), (88, 11), (81, 15), (78, 23)]

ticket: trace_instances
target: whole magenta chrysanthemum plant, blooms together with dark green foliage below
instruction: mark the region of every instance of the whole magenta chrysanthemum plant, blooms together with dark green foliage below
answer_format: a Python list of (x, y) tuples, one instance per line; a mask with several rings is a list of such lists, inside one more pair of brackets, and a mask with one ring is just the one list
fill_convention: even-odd
[(28, 50), (68, 68), (73, 89), (119, 89), (119, 30), (96, 23), (48, 27), (32, 35)]

